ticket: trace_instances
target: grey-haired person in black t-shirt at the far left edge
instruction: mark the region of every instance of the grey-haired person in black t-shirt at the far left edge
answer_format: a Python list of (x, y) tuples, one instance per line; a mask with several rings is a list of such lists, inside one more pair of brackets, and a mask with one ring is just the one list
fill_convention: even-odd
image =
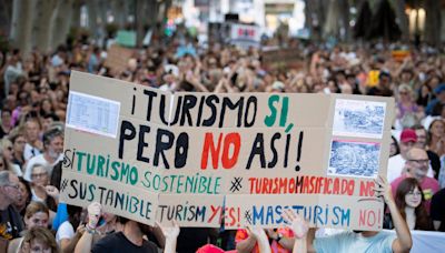
[(23, 223), (13, 208), (21, 199), (19, 178), (10, 171), (0, 171), (0, 239), (11, 240), (19, 236)]

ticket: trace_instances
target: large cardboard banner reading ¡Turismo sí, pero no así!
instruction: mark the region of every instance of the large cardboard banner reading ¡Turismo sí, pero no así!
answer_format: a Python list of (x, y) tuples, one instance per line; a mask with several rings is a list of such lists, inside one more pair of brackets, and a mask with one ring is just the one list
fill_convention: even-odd
[(379, 230), (394, 100), (169, 93), (73, 71), (62, 201), (154, 224)]

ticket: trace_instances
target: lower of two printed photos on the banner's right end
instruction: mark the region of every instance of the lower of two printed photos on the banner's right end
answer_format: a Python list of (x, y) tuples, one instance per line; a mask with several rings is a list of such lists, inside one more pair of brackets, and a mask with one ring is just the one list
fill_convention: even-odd
[(334, 140), (327, 174), (376, 179), (379, 153), (379, 143)]

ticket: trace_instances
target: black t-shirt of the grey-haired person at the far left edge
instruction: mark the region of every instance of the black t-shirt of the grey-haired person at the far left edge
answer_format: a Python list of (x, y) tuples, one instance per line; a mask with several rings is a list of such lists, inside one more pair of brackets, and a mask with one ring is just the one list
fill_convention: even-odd
[(0, 211), (0, 237), (8, 240), (17, 239), (20, 236), (22, 230), (22, 219), (12, 205)]

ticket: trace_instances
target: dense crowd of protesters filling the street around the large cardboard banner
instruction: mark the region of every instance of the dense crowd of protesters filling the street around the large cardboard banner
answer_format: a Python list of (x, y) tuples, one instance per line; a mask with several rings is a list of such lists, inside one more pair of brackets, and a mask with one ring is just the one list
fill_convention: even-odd
[[(347, 93), (394, 97), (384, 226), (397, 236), (374, 237), (383, 251), (409, 250), (408, 230), (445, 232), (445, 58), (431, 48), (402, 44), (326, 47), (288, 41), (301, 53), (300, 68), (274, 69), (260, 49), (219, 43), (179, 50), (185, 38), (135, 50), (123, 71), (105, 67), (107, 49), (85, 41), (53, 53), (0, 52), (0, 251), (8, 252), (295, 252), (327, 251), (354, 234), (314, 240), (314, 230), (287, 213), (289, 227), (212, 229), (148, 226), (59, 203), (63, 122), (71, 70), (117, 78), (165, 91)], [(396, 59), (393, 49), (409, 53)], [(376, 79), (372, 81), (372, 79)], [(390, 186), (389, 186), (390, 184)], [(297, 221), (297, 222), (294, 222)], [(363, 232), (363, 236), (377, 236)], [(304, 239), (304, 242), (301, 241)], [(339, 240), (340, 239), (340, 240)], [(347, 241), (349, 240), (349, 241)], [(212, 243), (220, 246), (206, 245)], [(364, 242), (360, 242), (364, 243)], [(363, 246), (357, 244), (355, 246)], [(296, 250), (297, 249), (297, 250)], [(377, 251), (380, 252), (380, 251)]]

